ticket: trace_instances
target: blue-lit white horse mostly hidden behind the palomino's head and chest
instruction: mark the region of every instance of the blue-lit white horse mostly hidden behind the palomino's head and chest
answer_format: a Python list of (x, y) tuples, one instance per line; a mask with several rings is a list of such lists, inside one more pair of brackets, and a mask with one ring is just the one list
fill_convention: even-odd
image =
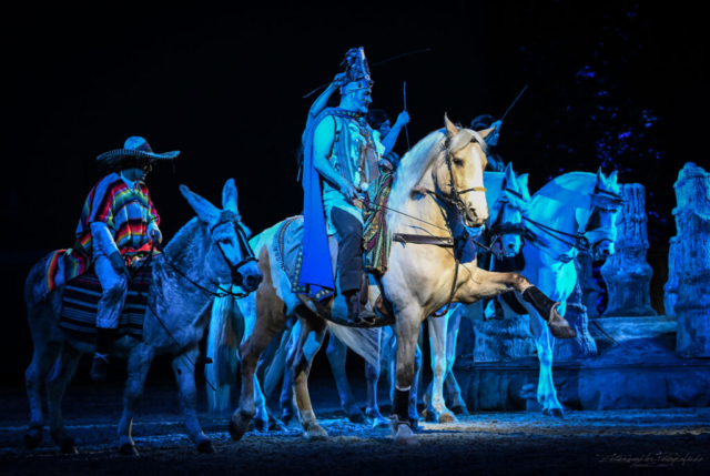
[[(506, 257), (515, 256), (520, 252), (523, 215), (530, 206), (528, 175), (516, 178), (513, 165), (508, 164), (505, 173), (486, 172), (484, 181), (488, 189), (486, 201), (493, 203), (488, 232), (494, 236), (490, 245), (498, 246), (500, 254)], [(456, 337), (462, 320), (460, 307), (462, 305), (452, 306), (442, 317), (428, 320), (434, 379), (425, 394), (427, 422), (452, 423), (456, 422), (454, 414), (466, 413), (466, 404), (460, 398), (458, 384), (450, 375), (456, 358)], [(444, 401), (445, 382), (454, 412), (446, 407)]]

